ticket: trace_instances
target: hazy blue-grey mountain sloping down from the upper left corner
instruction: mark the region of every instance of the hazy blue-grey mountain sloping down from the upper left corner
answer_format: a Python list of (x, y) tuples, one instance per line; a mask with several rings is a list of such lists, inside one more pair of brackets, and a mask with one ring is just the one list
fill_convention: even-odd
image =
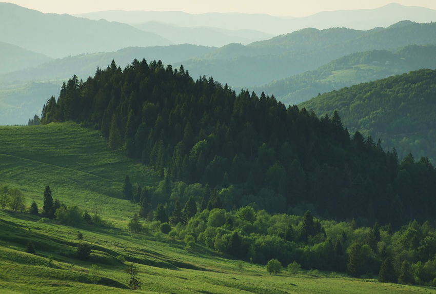
[(10, 3), (0, 3), (0, 27), (0, 41), (53, 58), (172, 44), (164, 37), (126, 24), (42, 13)]

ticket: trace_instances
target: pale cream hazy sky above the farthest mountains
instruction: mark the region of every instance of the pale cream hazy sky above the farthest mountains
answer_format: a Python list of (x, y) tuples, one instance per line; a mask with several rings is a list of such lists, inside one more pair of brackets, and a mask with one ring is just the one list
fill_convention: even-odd
[(306, 16), (321, 11), (378, 8), (395, 2), (436, 9), (436, 0), (11, 0), (2, 1), (42, 12), (86, 13), (102, 10), (154, 10), (267, 13)]

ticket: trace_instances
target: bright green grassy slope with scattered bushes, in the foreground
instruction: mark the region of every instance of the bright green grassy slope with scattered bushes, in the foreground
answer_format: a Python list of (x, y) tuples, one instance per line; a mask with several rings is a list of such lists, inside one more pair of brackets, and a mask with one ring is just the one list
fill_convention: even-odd
[[(144, 293), (416, 293), (429, 288), (355, 280), (343, 274), (321, 272), (309, 277), (286, 273), (267, 275), (263, 266), (227, 260), (202, 247), (187, 252), (184, 244), (166, 236), (158, 242), (154, 232), (126, 231), (128, 215), (137, 206), (118, 198), (125, 173), (133, 182), (155, 185), (156, 175), (147, 167), (110, 151), (98, 132), (72, 123), (35, 127), (0, 127), (0, 179), (23, 189), (29, 205), (34, 198), (42, 206), (49, 184), (55, 198), (82, 209), (104, 207), (109, 228), (80, 228), (36, 222), (29, 214), (0, 211), (0, 292), (2, 293), (125, 293), (127, 276), (115, 257), (138, 263)], [(90, 261), (74, 258), (80, 229), (92, 245)], [(24, 253), (29, 240), (37, 254)], [(47, 257), (53, 256), (52, 265)], [(88, 282), (91, 264), (102, 267), (98, 284)], [(375, 283), (374, 283), (375, 282)], [(110, 287), (110, 288), (109, 288)]]

